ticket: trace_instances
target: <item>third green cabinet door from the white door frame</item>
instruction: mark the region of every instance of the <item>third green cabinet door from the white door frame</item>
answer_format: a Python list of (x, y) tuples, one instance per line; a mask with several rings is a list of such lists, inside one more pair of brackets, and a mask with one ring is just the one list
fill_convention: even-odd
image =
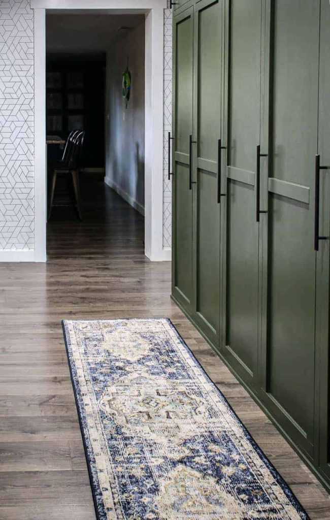
[[(222, 354), (247, 383), (258, 363), (259, 223), (256, 164), (260, 145), (261, 0), (226, 6), (225, 142), (227, 211), (223, 265)], [(261, 217), (263, 218), (263, 216)]]

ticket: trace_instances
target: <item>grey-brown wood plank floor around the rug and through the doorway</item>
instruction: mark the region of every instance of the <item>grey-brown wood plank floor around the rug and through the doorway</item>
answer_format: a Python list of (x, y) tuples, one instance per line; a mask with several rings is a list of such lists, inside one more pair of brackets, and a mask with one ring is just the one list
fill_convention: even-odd
[(102, 182), (82, 190), (83, 222), (54, 210), (47, 264), (0, 267), (0, 519), (95, 518), (61, 320), (169, 317), (311, 519), (330, 520), (326, 491), (170, 300), (141, 215)]

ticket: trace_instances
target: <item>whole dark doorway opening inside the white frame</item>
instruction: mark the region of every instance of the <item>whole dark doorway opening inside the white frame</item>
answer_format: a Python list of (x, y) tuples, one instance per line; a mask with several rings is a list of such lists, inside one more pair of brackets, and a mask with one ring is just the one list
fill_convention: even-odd
[(118, 213), (143, 251), (144, 47), (141, 14), (46, 11), (48, 254), (104, 253)]

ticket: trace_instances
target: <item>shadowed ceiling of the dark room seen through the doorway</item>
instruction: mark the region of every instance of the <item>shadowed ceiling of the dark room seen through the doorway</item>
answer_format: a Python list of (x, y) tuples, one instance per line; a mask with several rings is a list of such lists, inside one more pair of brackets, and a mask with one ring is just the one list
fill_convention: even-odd
[(99, 54), (103, 53), (109, 44), (127, 30), (118, 32), (121, 28), (133, 29), (144, 21), (144, 15), (132, 14), (100, 14), (100, 11), (86, 14), (78, 11), (75, 14), (46, 15), (46, 51), (47, 53), (66, 54)]

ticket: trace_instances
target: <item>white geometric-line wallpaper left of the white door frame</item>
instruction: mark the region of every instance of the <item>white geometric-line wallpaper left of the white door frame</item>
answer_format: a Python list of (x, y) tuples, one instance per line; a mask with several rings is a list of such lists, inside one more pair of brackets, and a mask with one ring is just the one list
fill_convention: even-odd
[(0, 249), (34, 249), (33, 11), (0, 0)]

